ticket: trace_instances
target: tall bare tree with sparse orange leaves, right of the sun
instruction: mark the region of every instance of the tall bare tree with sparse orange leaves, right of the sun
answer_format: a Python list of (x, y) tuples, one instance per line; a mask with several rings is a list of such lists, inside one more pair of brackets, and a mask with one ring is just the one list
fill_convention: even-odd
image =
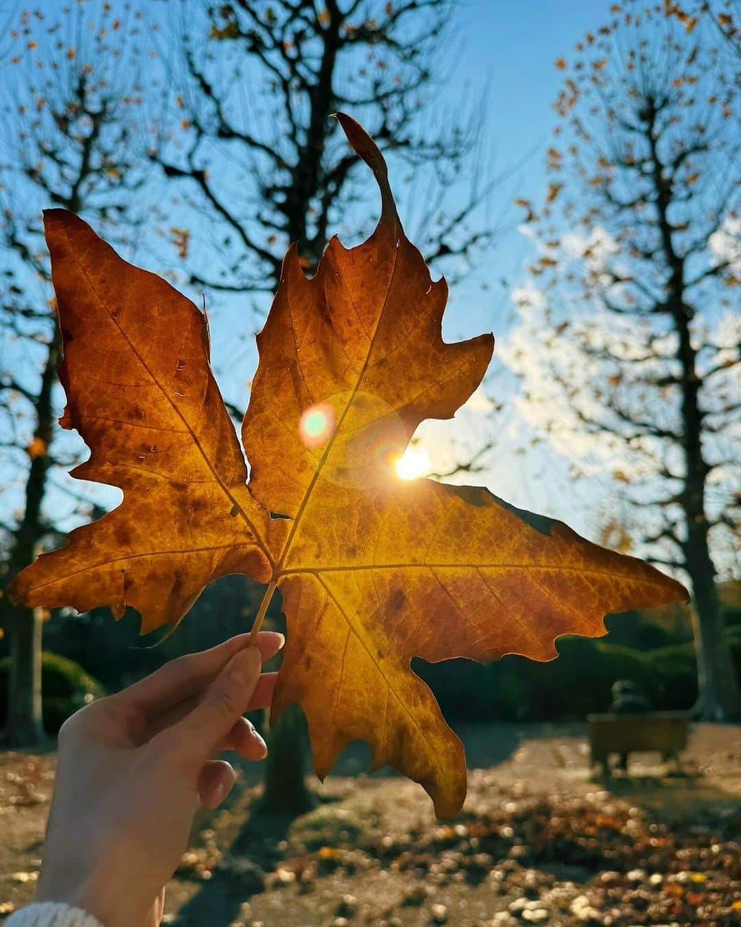
[(718, 720), (741, 714), (715, 587), (741, 514), (741, 133), (724, 42), (711, 17), (631, 2), (556, 62), (553, 180), (510, 347), (531, 421), (583, 471), (609, 469), (641, 548), (689, 576), (697, 710)]

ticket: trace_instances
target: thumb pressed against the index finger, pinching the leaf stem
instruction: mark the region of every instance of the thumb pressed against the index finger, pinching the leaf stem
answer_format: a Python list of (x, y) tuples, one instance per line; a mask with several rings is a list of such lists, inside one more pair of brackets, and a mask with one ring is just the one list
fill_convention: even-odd
[(206, 762), (247, 709), (257, 687), (262, 655), (257, 647), (234, 654), (193, 711), (175, 725), (179, 742)]

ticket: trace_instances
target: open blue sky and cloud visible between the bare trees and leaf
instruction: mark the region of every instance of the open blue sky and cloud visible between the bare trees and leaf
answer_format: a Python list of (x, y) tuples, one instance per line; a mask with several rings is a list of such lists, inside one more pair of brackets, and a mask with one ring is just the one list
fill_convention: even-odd
[[(148, 0), (147, 15), (164, 19), (175, 5)], [(4, 18), (6, 9), (12, 6), (2, 4)], [(58, 0), (43, 0), (38, 6), (54, 17), (61, 5)], [(607, 18), (609, 6), (598, 0), (522, 0), (519, 3), (463, 0), (458, 7), (450, 45), (455, 68), (440, 90), (440, 103), (442, 107), (446, 104), (455, 107), (467, 94), (478, 98), (484, 87), (488, 89), (487, 105), (481, 113), (484, 145), (494, 153), (494, 171), (506, 172), (507, 177), (497, 185), (490, 204), (492, 215), (497, 222), (502, 222), (496, 244), (483, 256), (475, 273), (451, 291), (445, 325), (448, 339), (468, 337), (481, 331), (493, 331), (500, 340), (506, 337), (513, 311), (509, 287), (521, 282), (524, 264), (531, 254), (528, 239), (518, 229), (522, 213), (513, 205), (513, 200), (515, 197), (538, 200), (546, 186), (544, 152), (555, 124), (551, 105), (560, 83), (554, 62), (558, 57), (569, 57), (573, 45), (584, 32), (595, 29)], [(431, 110), (432, 120), (434, 115)], [(372, 184), (370, 174), (369, 184)], [(397, 190), (399, 187), (401, 184), (397, 184)], [(403, 195), (399, 198), (404, 220)], [(154, 249), (149, 248), (152, 246), (144, 243), (134, 260), (149, 269), (164, 270), (162, 260), (166, 252), (161, 242), (156, 243)], [(172, 260), (171, 251), (164, 260)], [(508, 287), (501, 285), (502, 279), (507, 281)], [(485, 288), (483, 282), (487, 285)], [(189, 292), (188, 295), (200, 304), (199, 294)], [(210, 305), (213, 305), (209, 314), (214, 366), (220, 384), (230, 399), (246, 400), (246, 385), (254, 372), (257, 356), (251, 339), (238, 342), (235, 337), (245, 333), (245, 302), (233, 298)], [(465, 456), (475, 449), (487, 429), (494, 428), (496, 453), (488, 458), (487, 470), (472, 481), (489, 484), (497, 494), (516, 504), (568, 517), (577, 529), (594, 533), (594, 527), (590, 531), (584, 517), (574, 515), (572, 498), (564, 500), (561, 489), (566, 464), (563, 461), (542, 447), (528, 451), (524, 458), (515, 456), (525, 434), (511, 401), (516, 388), (507, 375), (497, 375), (487, 384), (489, 393), (509, 406), (509, 413), (504, 416), (489, 418), (481, 411), (469, 410), (461, 413), (452, 425), (423, 426), (422, 440), (428, 445), (433, 466), (446, 467), (450, 437), (456, 442), (456, 452)], [(525, 443), (527, 437), (525, 434)], [(75, 489), (79, 491), (80, 484), (76, 484)], [(114, 495), (118, 495), (115, 490)], [(108, 502), (115, 504), (109, 491), (106, 496)]]

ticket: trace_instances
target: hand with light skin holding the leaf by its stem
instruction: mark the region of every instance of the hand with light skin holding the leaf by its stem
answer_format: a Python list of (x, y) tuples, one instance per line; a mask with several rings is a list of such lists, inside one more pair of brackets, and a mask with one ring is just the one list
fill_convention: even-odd
[(270, 705), (277, 673), (260, 668), (283, 635), (248, 643), (243, 634), (173, 660), (64, 723), (38, 901), (82, 908), (105, 927), (159, 923), (195, 810), (218, 806), (236, 781), (213, 755), (267, 753), (242, 715)]

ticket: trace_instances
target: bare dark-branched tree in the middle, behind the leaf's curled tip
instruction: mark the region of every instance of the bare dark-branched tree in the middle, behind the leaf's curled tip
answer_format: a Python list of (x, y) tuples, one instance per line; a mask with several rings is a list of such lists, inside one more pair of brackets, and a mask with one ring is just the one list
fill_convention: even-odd
[[(407, 224), (425, 257), (453, 278), (466, 272), (495, 229), (485, 211), (493, 182), (480, 133), (485, 88), (457, 108), (441, 101), (457, 6), (234, 0), (204, 3), (200, 18), (186, 7), (172, 118), (153, 158), (198, 215), (196, 227), (173, 225), (191, 283), (251, 293), (259, 316), (259, 294), (274, 290), (290, 242), (310, 273), (330, 228), (357, 233), (358, 215), (367, 222), (374, 209), (358, 207), (368, 203), (368, 184), (356, 182), (358, 159), (330, 118), (336, 110), (362, 121), (403, 171), (413, 200)], [(303, 751), (295, 718), (285, 725), (294, 732), (287, 747), (271, 746), (282, 761), (270, 765), (266, 805), (284, 811), (293, 796), (302, 810), (310, 802)]]

